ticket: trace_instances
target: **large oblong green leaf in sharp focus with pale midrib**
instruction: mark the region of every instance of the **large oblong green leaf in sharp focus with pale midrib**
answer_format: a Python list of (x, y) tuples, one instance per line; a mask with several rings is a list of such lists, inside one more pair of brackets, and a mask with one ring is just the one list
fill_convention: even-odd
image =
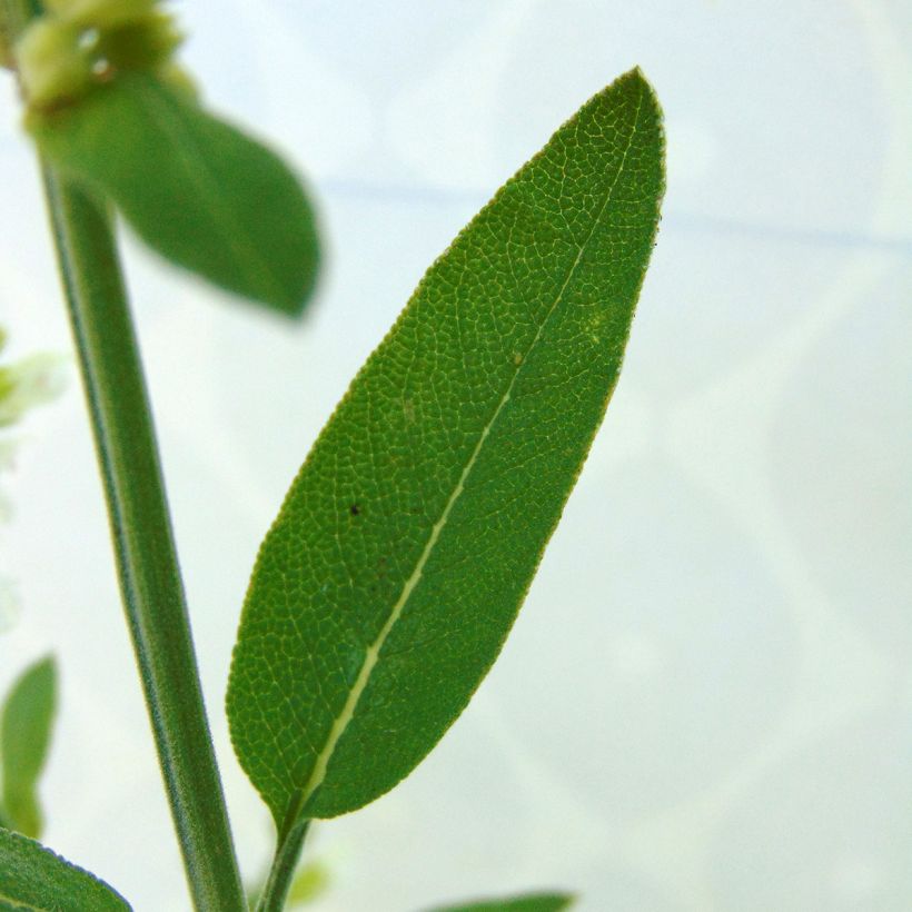
[(310, 452), (228, 690), (285, 832), (395, 785), (497, 656), (617, 380), (663, 162), (634, 70), (432, 266)]

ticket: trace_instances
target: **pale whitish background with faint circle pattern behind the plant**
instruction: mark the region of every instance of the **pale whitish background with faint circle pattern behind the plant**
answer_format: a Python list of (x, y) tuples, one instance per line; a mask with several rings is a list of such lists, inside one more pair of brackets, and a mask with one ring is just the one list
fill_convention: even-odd
[[(318, 912), (533, 886), (579, 909), (912, 908), (909, 0), (179, 4), (214, 106), (320, 200), (298, 327), (129, 246), (192, 621), (244, 869), (267, 814), (221, 708), (257, 544), (424, 268), (634, 63), (668, 194), (628, 360), (502, 661), (432, 759), (319, 829)], [(0, 323), (69, 349), (30, 152), (0, 96)], [(0, 531), (52, 650), (47, 842), (185, 910), (73, 375), (26, 428)]]

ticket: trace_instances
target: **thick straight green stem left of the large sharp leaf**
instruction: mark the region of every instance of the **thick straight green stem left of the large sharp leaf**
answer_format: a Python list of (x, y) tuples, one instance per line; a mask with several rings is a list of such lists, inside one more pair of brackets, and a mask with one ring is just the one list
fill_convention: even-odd
[(120, 588), (196, 909), (246, 910), (139, 350), (107, 214), (44, 169)]

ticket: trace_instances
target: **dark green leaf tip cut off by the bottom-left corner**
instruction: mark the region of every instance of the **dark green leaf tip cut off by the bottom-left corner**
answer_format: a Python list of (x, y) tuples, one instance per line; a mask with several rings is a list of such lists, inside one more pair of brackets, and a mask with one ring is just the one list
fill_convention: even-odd
[(38, 842), (0, 830), (0, 910), (123, 912), (127, 901)]

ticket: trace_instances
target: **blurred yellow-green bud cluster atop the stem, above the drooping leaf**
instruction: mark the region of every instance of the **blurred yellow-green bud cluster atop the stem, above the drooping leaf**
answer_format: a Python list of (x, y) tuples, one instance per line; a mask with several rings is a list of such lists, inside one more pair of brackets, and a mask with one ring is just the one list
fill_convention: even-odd
[(31, 110), (79, 99), (119, 70), (170, 71), (182, 40), (157, 0), (46, 0), (14, 48)]

